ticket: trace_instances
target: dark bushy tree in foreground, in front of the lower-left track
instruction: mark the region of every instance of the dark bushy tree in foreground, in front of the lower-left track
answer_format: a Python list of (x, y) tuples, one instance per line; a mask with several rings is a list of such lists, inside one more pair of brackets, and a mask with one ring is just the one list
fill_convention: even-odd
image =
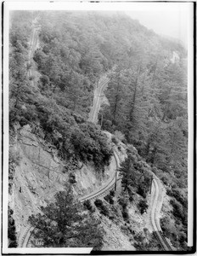
[(43, 242), (43, 247), (102, 247), (104, 230), (99, 220), (74, 199), (70, 188), (58, 192), (54, 202), (41, 210), (29, 221), (35, 228), (32, 235)]

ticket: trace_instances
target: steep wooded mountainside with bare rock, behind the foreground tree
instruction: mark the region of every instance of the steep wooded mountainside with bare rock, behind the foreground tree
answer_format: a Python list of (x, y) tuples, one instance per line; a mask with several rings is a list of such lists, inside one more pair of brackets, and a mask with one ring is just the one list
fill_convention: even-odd
[[(160, 38), (122, 14), (51, 11), (23, 15), (19, 12), (12, 19), (9, 206), (14, 210), (20, 244), (32, 213), (41, 211), (40, 207), (53, 201), (54, 195), (68, 183), (76, 198), (104, 187), (115, 172), (112, 144), (116, 144), (121, 154), (122, 148), (129, 148), (127, 144), (133, 143), (138, 152), (132, 147), (135, 151), (132, 169), (127, 169), (134, 173), (134, 183), (129, 173), (117, 183), (119, 192), (114, 201), (118, 212), (110, 206), (111, 195), (107, 195), (106, 202), (95, 201), (95, 214), (103, 218), (104, 206), (109, 209), (106, 210), (110, 212), (109, 219), (103, 218), (108, 234), (105, 238), (115, 236), (114, 231), (109, 231), (110, 221), (114, 219), (113, 230), (118, 230), (122, 237), (120, 247), (127, 237), (125, 245), (129, 249), (142, 249), (146, 244), (151, 249), (151, 241), (153, 247), (160, 249), (155, 238), (144, 231), (143, 207), (146, 207), (150, 180), (138, 162), (143, 157), (158, 172), (167, 189), (173, 185), (183, 187), (186, 182), (179, 179), (178, 183), (178, 176), (186, 176), (187, 166), (183, 47)], [(175, 51), (179, 61), (172, 63)], [(104, 86), (109, 82), (106, 96), (110, 104), (99, 114), (99, 108), (91, 112), (99, 79), (112, 69), (103, 81)], [(97, 106), (99, 96), (100, 91), (94, 100)], [(92, 124), (97, 115), (98, 125)], [(103, 130), (115, 136), (107, 136)], [(120, 137), (126, 146), (120, 145)], [(166, 164), (169, 161), (171, 167)], [(178, 204), (181, 202), (180, 209), (186, 209), (179, 191), (168, 193), (176, 196)], [(172, 202), (174, 216), (177, 201)], [(99, 210), (102, 206), (103, 213)], [(128, 206), (136, 212), (133, 222), (127, 213)], [(185, 231), (186, 227), (183, 215), (181, 221), (177, 247), (185, 247), (185, 236), (180, 235), (180, 230)], [(104, 248), (109, 244), (106, 241)], [(113, 247), (117, 248), (115, 242)]]

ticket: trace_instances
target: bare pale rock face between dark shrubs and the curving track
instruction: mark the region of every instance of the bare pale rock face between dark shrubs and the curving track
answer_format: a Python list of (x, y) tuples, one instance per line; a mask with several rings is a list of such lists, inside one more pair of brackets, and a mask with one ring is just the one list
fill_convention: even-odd
[[(10, 150), (18, 155), (14, 167), (14, 178), (9, 195), (9, 206), (14, 209), (14, 219), (18, 239), (27, 226), (28, 217), (39, 212), (39, 207), (53, 201), (53, 195), (64, 189), (69, 180), (65, 163), (57, 156), (57, 150), (37, 137), (29, 125), (23, 126), (14, 136), (10, 136)], [(81, 165), (82, 166), (82, 165)], [(104, 186), (114, 175), (115, 159), (104, 172), (96, 172), (94, 167), (83, 165), (73, 171), (76, 184), (73, 185), (76, 197), (86, 195)]]

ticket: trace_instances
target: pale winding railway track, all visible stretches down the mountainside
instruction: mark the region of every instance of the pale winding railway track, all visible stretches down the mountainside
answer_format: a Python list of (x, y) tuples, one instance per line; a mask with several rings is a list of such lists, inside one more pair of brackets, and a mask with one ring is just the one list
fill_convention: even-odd
[[(36, 49), (36, 44), (37, 44), (37, 28), (34, 27), (33, 34), (31, 37), (31, 49), (30, 49), (29, 60), (31, 60), (33, 52)], [(31, 75), (31, 71), (30, 71), (29, 75)], [(98, 119), (98, 110), (100, 108), (101, 94), (103, 93), (104, 87), (108, 84), (109, 81), (110, 81), (110, 79), (107, 77), (107, 74), (105, 74), (99, 80), (98, 87), (95, 90), (94, 97), (93, 97), (93, 107), (89, 114), (89, 118), (87, 119), (88, 121), (93, 122), (94, 124), (97, 123), (97, 119)], [(113, 154), (115, 157), (115, 163), (116, 163), (116, 169), (117, 169), (120, 166), (120, 159), (119, 159), (118, 155), (115, 153), (115, 150), (114, 150)], [(115, 175), (110, 180), (110, 183), (105, 185), (102, 189), (99, 189), (97, 192), (91, 193), (89, 195), (81, 196), (80, 198), (78, 198), (78, 201), (81, 201), (81, 202), (86, 201), (86, 200), (93, 201), (93, 200), (97, 199), (98, 197), (103, 197), (104, 195), (106, 195), (111, 189), (114, 189), (116, 175), (117, 175), (117, 173), (115, 172)], [(166, 241), (166, 238), (163, 235), (162, 230), (160, 228), (158, 211), (160, 211), (160, 208), (162, 206), (162, 198), (160, 198), (160, 186), (158, 184), (158, 177), (156, 177), (154, 173), (152, 173), (152, 175), (155, 177), (153, 179), (153, 185), (155, 186), (154, 201), (153, 201), (153, 207), (151, 209), (151, 215), (150, 215), (150, 218), (151, 218), (150, 221), (151, 221), (152, 228), (153, 228), (153, 234), (154, 234), (155, 238), (157, 239), (157, 241), (160, 242), (160, 246), (163, 248), (164, 251), (172, 251), (172, 247)], [(117, 178), (117, 180), (119, 180), (119, 178)], [(159, 210), (157, 208), (159, 208)], [(28, 225), (26, 227), (24, 236), (22, 236), (22, 239), (20, 241), (20, 247), (28, 247), (28, 244), (31, 241), (31, 231), (32, 230), (34, 230), (34, 228), (32, 228), (31, 225)], [(37, 242), (37, 247), (42, 247), (41, 241)]]

